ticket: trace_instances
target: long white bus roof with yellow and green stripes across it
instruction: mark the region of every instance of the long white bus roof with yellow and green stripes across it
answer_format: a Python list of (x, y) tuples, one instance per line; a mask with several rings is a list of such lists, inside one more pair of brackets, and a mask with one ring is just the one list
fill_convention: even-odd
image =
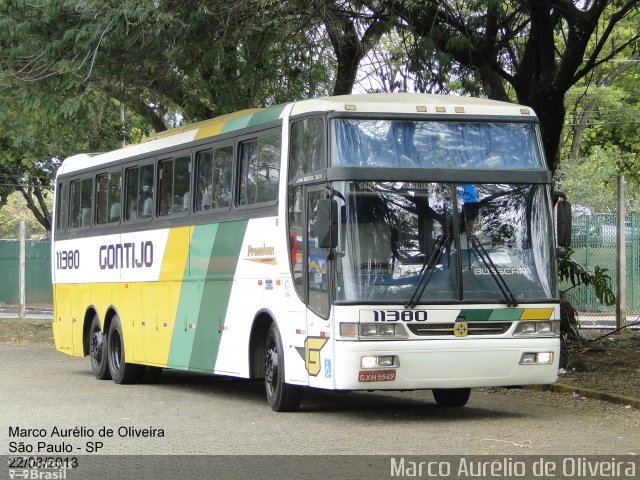
[(536, 118), (535, 113), (529, 107), (475, 97), (421, 93), (373, 93), (322, 97), (265, 109), (241, 110), (160, 132), (143, 143), (129, 145), (111, 152), (74, 155), (63, 162), (58, 169), (58, 175), (160, 151), (246, 127), (259, 126), (285, 116), (313, 112), (435, 114), (442, 115), (443, 119), (460, 117), (461, 115)]

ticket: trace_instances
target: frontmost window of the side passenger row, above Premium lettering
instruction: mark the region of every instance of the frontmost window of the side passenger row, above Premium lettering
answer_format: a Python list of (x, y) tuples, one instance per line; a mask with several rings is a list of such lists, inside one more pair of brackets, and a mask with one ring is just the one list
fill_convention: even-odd
[(240, 205), (277, 198), (280, 180), (280, 137), (269, 135), (240, 144)]

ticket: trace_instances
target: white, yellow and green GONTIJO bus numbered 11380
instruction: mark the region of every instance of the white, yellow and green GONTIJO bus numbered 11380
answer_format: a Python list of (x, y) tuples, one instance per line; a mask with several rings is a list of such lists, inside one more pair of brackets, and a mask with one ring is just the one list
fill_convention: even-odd
[(529, 107), (429, 94), (240, 111), (66, 159), (56, 348), (98, 379), (162, 369), (303, 391), (553, 383), (551, 173)]

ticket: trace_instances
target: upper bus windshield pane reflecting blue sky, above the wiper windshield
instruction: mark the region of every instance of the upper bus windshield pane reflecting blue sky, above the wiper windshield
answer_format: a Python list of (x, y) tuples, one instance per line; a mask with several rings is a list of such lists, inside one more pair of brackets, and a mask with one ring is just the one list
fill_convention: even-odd
[(544, 169), (532, 123), (334, 119), (333, 166)]

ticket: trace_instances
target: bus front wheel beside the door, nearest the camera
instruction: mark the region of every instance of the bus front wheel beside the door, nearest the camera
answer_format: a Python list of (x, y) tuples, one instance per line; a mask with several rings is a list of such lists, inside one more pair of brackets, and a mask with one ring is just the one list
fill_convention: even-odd
[(275, 412), (294, 412), (302, 400), (302, 387), (284, 381), (284, 350), (275, 323), (267, 333), (264, 352), (264, 383), (267, 401)]

